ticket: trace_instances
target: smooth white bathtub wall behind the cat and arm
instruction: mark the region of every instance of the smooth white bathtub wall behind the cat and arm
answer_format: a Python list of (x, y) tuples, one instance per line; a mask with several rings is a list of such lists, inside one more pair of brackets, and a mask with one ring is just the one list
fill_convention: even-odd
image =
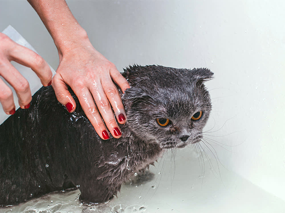
[[(67, 3), (120, 71), (129, 64), (210, 68), (205, 130), (215, 125), (208, 141), (221, 164), (285, 200), (284, 1)], [(52, 38), (26, 1), (0, 1), (0, 31), (9, 24), (56, 69)]]

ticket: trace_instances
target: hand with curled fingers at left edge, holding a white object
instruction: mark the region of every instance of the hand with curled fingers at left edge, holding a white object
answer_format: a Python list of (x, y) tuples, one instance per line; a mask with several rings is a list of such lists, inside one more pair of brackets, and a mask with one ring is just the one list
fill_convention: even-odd
[[(34, 51), (21, 46), (7, 35), (0, 33), (0, 76), (16, 91), (21, 108), (29, 108), (32, 95), (28, 81), (13, 67), (11, 61), (30, 67), (40, 78), (42, 85), (51, 84), (52, 71), (48, 63)], [(12, 90), (0, 78), (0, 102), (6, 114), (15, 113)]]

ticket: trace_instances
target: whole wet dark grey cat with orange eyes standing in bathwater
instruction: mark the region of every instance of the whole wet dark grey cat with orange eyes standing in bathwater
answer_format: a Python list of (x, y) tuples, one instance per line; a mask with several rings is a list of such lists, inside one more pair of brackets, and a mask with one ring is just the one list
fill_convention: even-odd
[(206, 68), (129, 66), (121, 94), (123, 135), (102, 140), (78, 99), (68, 113), (51, 86), (0, 126), (0, 204), (12, 205), (52, 191), (79, 187), (83, 202), (108, 201), (134, 172), (143, 172), (165, 149), (199, 142), (211, 111)]

